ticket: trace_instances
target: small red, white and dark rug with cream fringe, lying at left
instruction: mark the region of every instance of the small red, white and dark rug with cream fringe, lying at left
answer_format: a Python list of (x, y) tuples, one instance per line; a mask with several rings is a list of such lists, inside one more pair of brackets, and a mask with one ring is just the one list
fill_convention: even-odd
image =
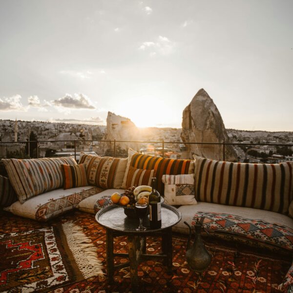
[(0, 290), (45, 292), (102, 274), (89, 242), (71, 222), (0, 235)]

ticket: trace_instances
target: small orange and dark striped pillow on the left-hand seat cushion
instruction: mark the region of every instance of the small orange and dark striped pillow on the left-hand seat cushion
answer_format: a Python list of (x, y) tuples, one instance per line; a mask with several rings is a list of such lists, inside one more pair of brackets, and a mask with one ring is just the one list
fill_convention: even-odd
[(87, 186), (85, 164), (62, 165), (64, 189)]

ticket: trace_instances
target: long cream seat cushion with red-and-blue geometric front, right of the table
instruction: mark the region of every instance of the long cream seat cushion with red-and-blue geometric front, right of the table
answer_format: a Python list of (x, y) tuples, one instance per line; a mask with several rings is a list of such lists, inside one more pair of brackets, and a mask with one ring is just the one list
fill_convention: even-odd
[(173, 227), (180, 233), (189, 233), (186, 221), (194, 226), (197, 218), (212, 236), (237, 240), (247, 244), (277, 250), (293, 250), (293, 219), (263, 209), (225, 206), (198, 202), (181, 206), (182, 220)]

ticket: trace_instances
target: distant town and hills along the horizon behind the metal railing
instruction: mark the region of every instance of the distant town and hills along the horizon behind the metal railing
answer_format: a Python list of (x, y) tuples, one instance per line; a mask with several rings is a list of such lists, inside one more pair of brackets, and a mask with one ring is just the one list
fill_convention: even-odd
[[(105, 139), (106, 129), (107, 126), (99, 125), (0, 120), (0, 158), (70, 155), (74, 150), (78, 155), (81, 150), (99, 155), (113, 155), (113, 147), (110, 143), (99, 142)], [(230, 143), (238, 144), (234, 149), (239, 162), (293, 161), (293, 132), (226, 130)], [(108, 129), (109, 131), (111, 129)], [(139, 141), (177, 142), (165, 144), (164, 156), (186, 158), (187, 149), (180, 136), (181, 128), (151, 127), (138, 131)], [(117, 140), (127, 140), (127, 137), (117, 137)], [(27, 141), (39, 141), (39, 143), (17, 143)], [(275, 144), (282, 146), (272, 146)], [(118, 145), (116, 150), (117, 156), (127, 156), (126, 147)], [(138, 150), (162, 155), (161, 143), (141, 143)]]

